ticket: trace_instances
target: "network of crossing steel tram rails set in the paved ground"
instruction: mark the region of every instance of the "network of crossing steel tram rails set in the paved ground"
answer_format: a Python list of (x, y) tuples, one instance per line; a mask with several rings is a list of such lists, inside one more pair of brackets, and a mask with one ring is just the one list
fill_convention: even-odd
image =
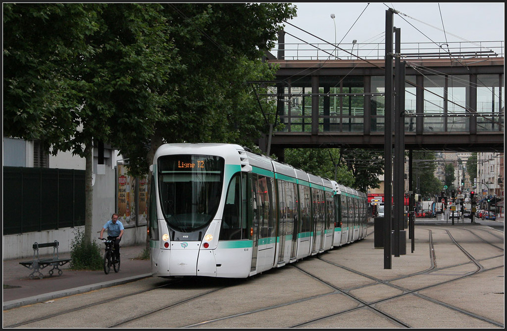
[[(374, 314), (377, 314), (378, 316), (382, 317), (383, 319), (386, 319), (386, 320), (390, 321), (395, 326), (399, 326), (399, 327), (413, 327), (412, 325), (409, 324), (409, 322), (403, 321), (400, 318), (397, 318), (396, 316), (393, 316), (392, 313), (388, 313), (386, 311), (383, 311), (381, 308), (376, 307), (378, 304), (389, 303), (389, 301), (392, 301), (392, 300), (398, 299), (398, 298), (403, 298), (403, 297), (406, 297), (408, 295), (413, 295), (413, 296), (415, 296), (415, 297), (417, 297), (419, 299), (422, 299), (422, 300), (425, 300), (427, 302), (431, 302), (433, 304), (445, 307), (445, 308), (450, 309), (450, 310), (452, 310), (454, 312), (458, 312), (460, 314), (463, 314), (463, 315), (469, 316), (471, 318), (483, 321), (485, 323), (489, 323), (491, 326), (503, 327), (504, 326), (503, 323), (500, 323), (498, 321), (492, 320), (491, 318), (488, 318), (488, 317), (485, 317), (485, 316), (481, 316), (480, 314), (467, 311), (466, 309), (463, 309), (463, 308), (460, 308), (460, 307), (456, 307), (456, 306), (454, 306), (452, 304), (448, 304), (448, 303), (442, 302), (440, 300), (431, 298), (431, 297), (429, 297), (427, 295), (423, 295), (423, 294), (420, 293), (421, 291), (423, 291), (425, 289), (429, 289), (429, 288), (440, 286), (440, 285), (443, 285), (443, 284), (446, 284), (446, 283), (451, 283), (451, 282), (455, 282), (455, 281), (458, 281), (458, 280), (461, 280), (461, 279), (473, 277), (473, 276), (476, 276), (476, 275), (479, 275), (479, 274), (482, 274), (482, 273), (485, 273), (485, 272), (488, 272), (488, 271), (492, 271), (492, 270), (495, 270), (495, 269), (498, 269), (498, 268), (503, 268), (503, 264), (501, 266), (495, 266), (495, 267), (491, 267), (491, 268), (485, 268), (481, 264), (482, 261), (487, 261), (487, 260), (490, 260), (490, 259), (499, 258), (499, 257), (503, 256), (503, 254), (499, 254), (499, 255), (495, 255), (495, 256), (489, 256), (489, 257), (483, 258), (483, 259), (476, 259), (476, 258), (474, 258), (473, 254), (471, 254), (465, 247), (463, 247), (460, 244), (459, 239), (456, 239), (455, 236), (453, 236), (453, 234), (451, 233), (451, 231), (453, 231), (453, 230), (449, 231), (449, 230), (447, 230), (445, 228), (438, 228), (437, 227), (437, 229), (439, 231), (444, 231), (447, 234), (447, 237), (449, 238), (448, 243), (452, 244), (452, 245), (455, 245), (458, 249), (460, 249), (461, 253), (464, 256), (466, 256), (466, 258), (468, 260), (468, 262), (465, 262), (465, 263), (458, 263), (458, 264), (453, 264), (453, 265), (447, 265), (447, 266), (444, 266), (444, 267), (439, 267), (438, 266), (438, 259), (437, 259), (436, 252), (435, 252), (434, 241), (433, 241), (433, 231), (436, 228), (424, 229), (424, 228), (420, 228), (419, 227), (419, 229), (426, 230), (428, 232), (428, 246), (427, 246), (428, 248), (427, 249), (429, 251), (428, 259), (429, 259), (429, 262), (430, 262), (430, 266), (427, 269), (425, 269), (425, 270), (417, 271), (417, 272), (414, 272), (414, 273), (411, 273), (411, 274), (408, 274), (408, 275), (392, 277), (392, 278), (389, 278), (389, 279), (381, 279), (379, 277), (375, 277), (375, 276), (369, 275), (368, 273), (361, 272), (361, 271), (358, 271), (358, 270), (354, 270), (353, 268), (347, 267), (345, 265), (340, 265), (338, 263), (329, 261), (329, 260), (327, 260), (325, 258), (325, 256), (323, 256), (324, 254), (318, 254), (318, 255), (315, 256), (315, 258), (317, 258), (319, 261), (322, 261), (323, 263), (330, 264), (330, 265), (332, 265), (334, 267), (337, 267), (337, 268), (341, 268), (341, 269), (346, 270), (348, 272), (354, 273), (354, 274), (356, 274), (358, 276), (366, 277), (366, 278), (372, 280), (374, 283), (370, 282), (369, 284), (366, 284), (366, 285), (360, 285), (360, 286), (348, 287), (348, 288), (340, 288), (340, 287), (338, 287), (338, 286), (330, 283), (329, 281), (326, 281), (324, 278), (322, 278), (320, 275), (318, 275), (318, 273), (315, 273), (313, 271), (311, 271), (311, 272), (307, 271), (307, 270), (305, 270), (305, 267), (300, 266), (299, 264), (291, 264), (291, 265), (288, 265), (288, 266), (292, 266), (292, 267), (296, 268), (297, 270), (299, 270), (301, 273), (307, 275), (308, 277), (311, 277), (312, 279), (315, 279), (316, 281), (324, 284), (325, 286), (330, 287), (332, 289), (332, 291), (328, 292), (328, 293), (322, 293), (320, 295), (307, 296), (307, 297), (304, 297), (304, 298), (298, 298), (296, 300), (288, 300), (286, 302), (282, 302), (282, 303), (278, 303), (278, 304), (274, 304), (274, 305), (269, 305), (269, 306), (266, 306), (266, 307), (258, 307), (256, 309), (251, 309), (249, 311), (243, 311), (243, 312), (237, 312), (237, 313), (230, 314), (230, 315), (227, 315), (227, 316), (219, 316), (219, 317), (216, 317), (216, 318), (210, 318), (210, 319), (206, 319), (205, 321), (200, 321), (200, 322), (196, 322), (196, 323), (188, 324), (188, 325), (183, 325), (183, 326), (179, 326), (179, 327), (189, 328), (189, 327), (199, 327), (199, 326), (206, 326), (206, 325), (210, 325), (211, 326), (211, 325), (213, 325), (212, 323), (221, 322), (221, 321), (225, 322), (225, 321), (230, 320), (230, 319), (239, 318), (239, 317), (242, 317), (242, 316), (247, 316), (247, 315), (256, 314), (256, 313), (260, 313), (260, 312), (265, 312), (265, 311), (269, 311), (269, 310), (273, 310), (273, 309), (277, 309), (277, 308), (281, 308), (281, 307), (291, 306), (291, 305), (295, 305), (295, 304), (299, 304), (299, 303), (304, 303), (306, 301), (320, 299), (322, 297), (332, 296), (332, 295), (345, 296), (345, 297), (349, 298), (350, 300), (352, 300), (353, 302), (355, 302), (355, 304), (357, 306), (356, 307), (352, 307), (352, 308), (350, 308), (350, 307), (343, 308), (343, 309), (341, 309), (339, 311), (335, 311), (335, 312), (329, 311), (327, 314), (325, 314), (325, 316), (317, 316), (317, 317), (313, 316), (314, 318), (311, 318), (311, 319), (306, 320), (306, 321), (304, 321), (304, 320), (303, 321), (301, 321), (301, 320), (300, 321), (295, 321), (297, 323), (294, 323), (293, 325), (286, 326), (286, 327), (305, 327), (305, 326), (310, 326), (311, 327), (312, 324), (318, 323), (319, 321), (323, 321), (325, 319), (329, 319), (329, 318), (333, 318), (333, 317), (336, 317), (336, 316), (344, 315), (344, 314), (351, 313), (351, 312), (354, 312), (354, 311), (358, 311), (358, 310), (361, 310), (361, 309), (369, 310), (369, 311), (373, 312)], [(457, 228), (453, 228), (453, 229), (457, 229)], [(459, 230), (461, 231), (461, 230), (468, 230), (468, 229), (459, 229)], [(444, 232), (442, 233), (442, 235), (444, 234)], [(481, 238), (480, 236), (474, 234), (472, 231), (468, 231), (468, 232), (470, 232), (470, 236), (474, 235), (474, 238), (477, 238), (477, 240), (480, 241), (482, 244), (484, 244), (484, 245), (489, 244), (492, 247), (500, 248), (497, 245), (495, 245), (494, 243), (488, 242), (487, 239)], [(501, 249), (501, 251), (503, 252), (503, 249)], [(407, 279), (407, 278), (410, 278), (410, 277), (413, 277), (413, 276), (418, 276), (418, 275), (429, 275), (429, 274), (434, 273), (434, 272), (443, 271), (443, 270), (449, 270), (449, 269), (452, 269), (452, 268), (455, 268), (455, 267), (459, 267), (459, 266), (463, 266), (463, 265), (467, 265), (467, 264), (474, 265), (475, 266), (475, 270), (473, 270), (471, 272), (468, 272), (468, 273), (466, 273), (464, 275), (461, 275), (461, 276), (453, 277), (452, 279), (447, 279), (445, 281), (438, 281), (436, 283), (433, 283), (433, 284), (430, 284), (430, 285), (426, 285), (426, 286), (421, 286), (421, 287), (418, 287), (418, 288), (415, 288), (415, 289), (414, 288), (409, 289), (407, 287), (400, 286), (399, 284), (393, 284), (393, 282), (396, 281), (396, 280), (403, 280), (403, 279)], [(260, 275), (259, 277), (262, 277), (262, 275)], [(160, 286), (155, 286), (153, 288), (147, 288), (147, 289), (135, 291), (135, 292), (132, 292), (132, 293), (127, 293), (125, 295), (122, 295), (122, 296), (119, 296), (119, 297), (115, 297), (113, 300), (119, 300), (119, 299), (125, 299), (125, 298), (131, 297), (132, 300), (135, 301), (135, 296), (136, 295), (141, 295), (142, 293), (146, 293), (146, 292), (149, 292), (149, 291), (157, 290), (157, 289), (160, 289), (160, 288), (170, 288), (171, 286), (175, 286), (176, 284), (179, 284), (182, 281), (183, 281), (183, 279), (174, 279), (170, 283), (166, 283), (166, 284), (163, 284), (163, 285), (160, 285)], [(227, 282), (226, 284), (221, 284), (221, 283), (215, 284), (215, 286), (218, 286), (217, 288), (212, 288), (212, 289), (208, 289), (208, 290), (203, 289), (205, 291), (202, 292), (202, 293), (197, 293), (194, 296), (191, 296), (191, 297), (188, 297), (188, 298), (185, 298), (185, 299), (182, 299), (182, 300), (176, 300), (175, 302), (170, 303), (170, 304), (166, 304), (166, 305), (164, 305), (162, 307), (156, 307), (156, 309), (150, 310), (148, 312), (140, 313), (138, 316), (132, 316), (131, 318), (127, 318), (127, 319), (122, 320), (122, 321), (116, 321), (116, 322), (114, 322), (114, 324), (107, 325), (105, 327), (129, 327), (129, 323), (131, 323), (131, 322), (135, 322), (136, 320), (142, 320), (143, 318), (150, 318), (151, 315), (154, 315), (154, 314), (157, 314), (157, 313), (160, 313), (160, 312), (166, 311), (166, 312), (168, 312), (170, 314), (171, 309), (173, 309), (175, 307), (191, 303), (192, 301), (195, 301), (195, 300), (200, 300), (202, 298), (205, 298), (206, 296), (212, 296), (213, 293), (216, 293), (216, 292), (218, 292), (220, 290), (223, 290), (226, 287), (234, 286), (236, 284), (237, 284), (236, 282), (234, 282), (234, 283)], [(352, 295), (350, 293), (352, 290), (361, 289), (361, 288), (367, 288), (369, 286), (376, 285), (376, 284), (384, 284), (384, 285), (390, 286), (390, 287), (392, 287), (394, 289), (402, 291), (402, 293), (398, 293), (397, 295), (391, 295), (388, 298), (383, 298), (383, 299), (372, 301), (372, 302), (368, 302), (368, 301), (365, 301), (363, 299), (360, 299), (357, 296), (354, 296), (354, 295)], [(496, 293), (496, 294), (498, 294), (498, 293)], [(16, 324), (11, 324), (11, 325), (4, 325), (4, 327), (23, 326), (23, 325), (30, 324), (30, 323), (33, 323), (33, 322), (38, 322), (38, 321), (43, 321), (43, 320), (46, 320), (46, 319), (51, 319), (51, 318), (56, 317), (58, 315), (67, 314), (67, 313), (71, 313), (71, 312), (75, 312), (75, 311), (79, 311), (79, 310), (86, 310), (86, 309), (92, 308), (94, 306), (102, 305), (102, 304), (105, 304), (105, 303), (108, 303), (108, 302), (111, 302), (111, 301), (112, 301), (112, 299), (104, 299), (104, 300), (101, 300), (100, 302), (91, 303), (91, 304), (88, 304), (88, 305), (83, 305), (81, 307), (76, 307), (76, 308), (73, 308), (73, 309), (69, 309), (67, 311), (54, 313), (54, 314), (47, 315), (47, 316), (44, 316), (44, 317), (39, 317), (39, 318), (23, 321), (23, 322), (20, 322), (20, 323), (16, 323)]]

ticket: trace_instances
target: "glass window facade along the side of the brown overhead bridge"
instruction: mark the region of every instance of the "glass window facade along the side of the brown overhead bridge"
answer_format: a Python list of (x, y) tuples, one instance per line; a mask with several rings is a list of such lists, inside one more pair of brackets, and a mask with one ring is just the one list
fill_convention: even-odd
[[(406, 76), (406, 132), (504, 130), (503, 73), (431, 75), (427, 68), (417, 70), (421, 75)], [(314, 132), (315, 127), (318, 133), (384, 132), (384, 76), (319, 76), (317, 82), (294, 79), (283, 88), (283, 107), (278, 107), (282, 132)]]

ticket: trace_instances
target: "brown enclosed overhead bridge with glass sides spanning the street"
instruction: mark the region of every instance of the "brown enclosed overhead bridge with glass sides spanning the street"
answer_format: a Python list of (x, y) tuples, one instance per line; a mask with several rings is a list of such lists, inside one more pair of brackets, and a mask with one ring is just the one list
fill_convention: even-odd
[[(277, 114), (271, 139), (260, 140), (265, 151), (384, 149), (385, 60), (331, 52), (324, 58), (268, 57), (278, 67), (276, 81), (261, 97), (276, 100)], [(503, 151), (503, 46), (466, 53), (403, 58), (407, 150)]]

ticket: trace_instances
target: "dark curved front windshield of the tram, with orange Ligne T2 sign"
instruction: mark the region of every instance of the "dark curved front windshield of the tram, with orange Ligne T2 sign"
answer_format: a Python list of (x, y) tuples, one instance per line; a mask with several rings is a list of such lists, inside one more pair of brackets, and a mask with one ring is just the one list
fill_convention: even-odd
[(192, 232), (208, 225), (218, 210), (225, 160), (210, 155), (158, 159), (160, 202), (169, 226)]

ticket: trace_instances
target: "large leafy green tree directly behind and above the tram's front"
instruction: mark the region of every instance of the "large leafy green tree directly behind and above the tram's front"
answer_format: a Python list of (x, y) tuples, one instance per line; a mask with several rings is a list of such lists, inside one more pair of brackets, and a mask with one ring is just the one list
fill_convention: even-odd
[(161, 105), (152, 136), (142, 148), (125, 148), (133, 151), (127, 157), (134, 173), (146, 173), (155, 151), (166, 142), (251, 145), (266, 132), (248, 82), (274, 77), (274, 68), (260, 59), (273, 47), (279, 25), (296, 14), (289, 4), (163, 6), (182, 66), (159, 91), (171, 95), (171, 101)]

